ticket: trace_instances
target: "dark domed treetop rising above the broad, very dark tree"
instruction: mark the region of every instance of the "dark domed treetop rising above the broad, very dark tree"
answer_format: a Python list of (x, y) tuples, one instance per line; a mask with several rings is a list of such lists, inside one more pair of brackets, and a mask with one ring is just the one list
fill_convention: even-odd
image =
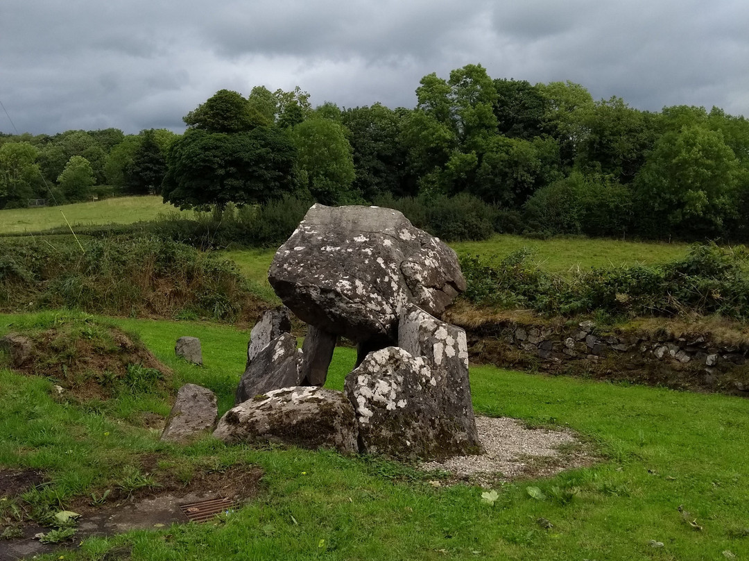
[(240, 133), (264, 124), (248, 100), (221, 89), (184, 116), (187, 127), (210, 133)]

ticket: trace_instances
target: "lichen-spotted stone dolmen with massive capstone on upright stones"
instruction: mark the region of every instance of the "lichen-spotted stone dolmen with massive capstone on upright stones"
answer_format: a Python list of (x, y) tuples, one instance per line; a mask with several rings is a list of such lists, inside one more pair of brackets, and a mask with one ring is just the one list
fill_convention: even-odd
[[(405, 459), (482, 452), (466, 335), (440, 320), (466, 288), (451, 248), (391, 208), (314, 205), (268, 280), (285, 307), (252, 329), (215, 437)], [(290, 314), (307, 324), (301, 349)], [(356, 365), (344, 392), (323, 389), (342, 337)]]

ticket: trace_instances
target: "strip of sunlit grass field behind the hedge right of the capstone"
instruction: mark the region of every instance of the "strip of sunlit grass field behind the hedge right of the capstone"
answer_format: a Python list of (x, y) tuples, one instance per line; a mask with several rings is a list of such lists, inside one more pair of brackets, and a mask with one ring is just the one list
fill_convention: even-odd
[(591, 267), (609, 268), (623, 265), (653, 265), (684, 257), (687, 244), (664, 242), (623, 242), (614, 239), (582, 237), (547, 240), (502, 234), (485, 242), (456, 242), (450, 246), (458, 255), (505, 257), (512, 251), (531, 248), (533, 258), (542, 269), (552, 273), (577, 272)]

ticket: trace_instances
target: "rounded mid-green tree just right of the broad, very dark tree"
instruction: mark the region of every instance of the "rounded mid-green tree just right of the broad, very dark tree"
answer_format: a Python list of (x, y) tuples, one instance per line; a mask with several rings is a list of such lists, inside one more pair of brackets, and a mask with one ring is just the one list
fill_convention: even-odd
[(308, 118), (294, 127), (292, 139), (302, 184), (315, 200), (326, 205), (351, 201), (354, 157), (344, 128), (327, 118)]

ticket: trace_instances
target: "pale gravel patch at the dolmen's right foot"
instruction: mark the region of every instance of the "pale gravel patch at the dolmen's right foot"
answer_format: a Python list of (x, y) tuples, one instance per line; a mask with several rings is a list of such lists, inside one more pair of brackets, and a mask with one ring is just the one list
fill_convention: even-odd
[(529, 429), (521, 421), (509, 417), (476, 417), (476, 430), (485, 454), (455, 456), (443, 462), (422, 463), (421, 469), (439, 469), (456, 478), (470, 479), (479, 484), (521, 475), (553, 475), (562, 469), (590, 463), (584, 452), (560, 454), (560, 446), (580, 444), (571, 431)]

